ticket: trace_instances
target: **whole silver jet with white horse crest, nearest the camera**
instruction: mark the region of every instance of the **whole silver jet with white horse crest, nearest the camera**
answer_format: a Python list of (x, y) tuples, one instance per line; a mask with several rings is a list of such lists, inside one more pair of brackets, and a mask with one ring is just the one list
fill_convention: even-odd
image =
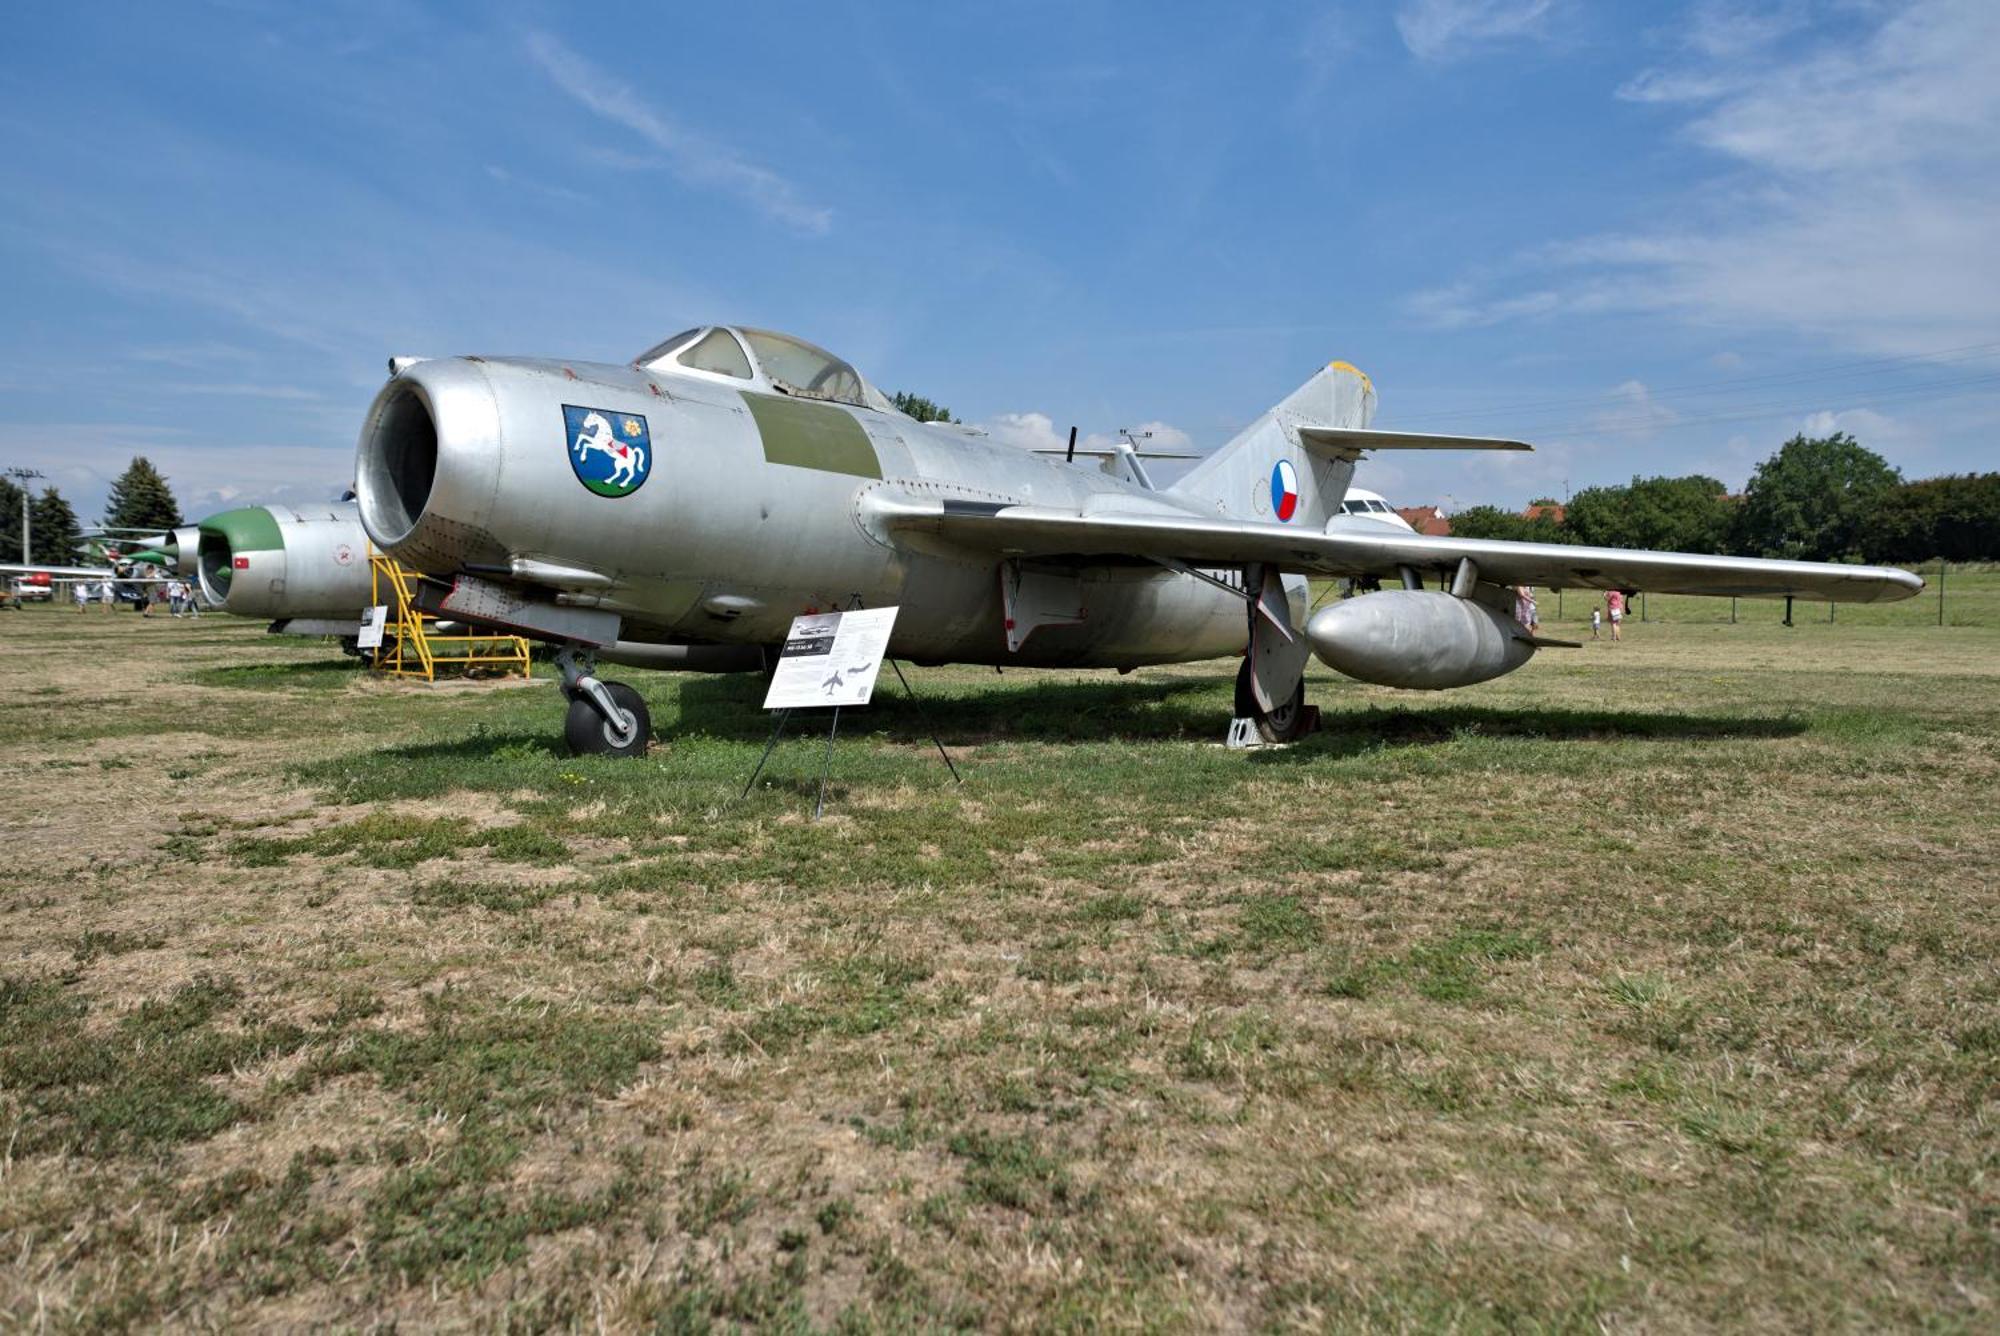
[[(378, 548), (434, 576), (442, 616), (560, 646), (578, 752), (640, 754), (638, 692), (596, 658), (748, 670), (800, 612), (900, 606), (920, 664), (1118, 668), (1244, 654), (1236, 714), (1304, 724), (1304, 668), (1446, 688), (1544, 644), (1510, 586), (1744, 598), (1908, 598), (1882, 566), (1428, 538), (1342, 516), (1374, 450), (1526, 450), (1378, 432), (1332, 362), (1180, 482), (1132, 442), (1028, 452), (916, 422), (786, 334), (704, 326), (628, 366), (394, 358), (360, 436)], [(1082, 456), (1078, 460), (1076, 456)], [(1306, 618), (1306, 576), (1396, 588)]]

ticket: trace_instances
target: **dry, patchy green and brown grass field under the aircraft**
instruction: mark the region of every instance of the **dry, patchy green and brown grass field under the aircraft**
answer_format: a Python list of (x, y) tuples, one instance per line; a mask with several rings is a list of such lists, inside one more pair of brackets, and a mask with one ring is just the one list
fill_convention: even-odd
[(736, 802), (752, 680), (572, 760), (546, 676), (0, 612), (0, 1312), (1992, 1330), (2000, 576), (1948, 608), (1314, 668), (1258, 754), (1234, 664), (926, 670), (966, 782), (890, 680), (820, 824), (824, 734)]

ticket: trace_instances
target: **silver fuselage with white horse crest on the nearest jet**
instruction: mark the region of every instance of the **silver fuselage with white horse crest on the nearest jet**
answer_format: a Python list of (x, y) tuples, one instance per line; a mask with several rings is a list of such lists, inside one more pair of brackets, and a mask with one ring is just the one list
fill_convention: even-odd
[[(612, 460), (608, 480), (586, 480), (604, 466), (594, 454)], [(1084, 616), (1010, 650), (1006, 568), (990, 552), (890, 544), (870, 530), (872, 494), (1188, 510), (874, 408), (632, 366), (434, 360), (378, 398), (362, 472), (370, 528), (406, 564), (566, 584), (564, 602), (618, 612), (624, 638), (776, 644), (800, 612), (896, 604), (892, 652), (922, 662), (1128, 668), (1234, 654), (1246, 640), (1242, 600), (1186, 574), (1044, 562), (1028, 568), (1032, 592), (1074, 594)]]

